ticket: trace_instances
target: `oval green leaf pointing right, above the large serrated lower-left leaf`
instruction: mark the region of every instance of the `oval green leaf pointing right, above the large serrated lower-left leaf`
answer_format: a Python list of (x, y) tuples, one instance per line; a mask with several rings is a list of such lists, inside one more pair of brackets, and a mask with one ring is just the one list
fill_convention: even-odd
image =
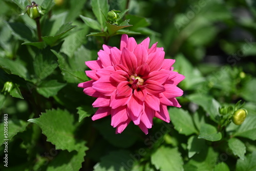
[(60, 89), (66, 86), (66, 83), (60, 83), (57, 80), (45, 80), (36, 88), (37, 92), (46, 98), (55, 96)]

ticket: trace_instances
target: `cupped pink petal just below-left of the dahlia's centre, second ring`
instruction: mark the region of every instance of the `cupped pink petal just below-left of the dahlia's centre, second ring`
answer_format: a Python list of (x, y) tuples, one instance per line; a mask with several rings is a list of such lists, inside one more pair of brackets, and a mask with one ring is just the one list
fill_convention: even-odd
[(130, 96), (127, 97), (118, 97), (116, 94), (116, 90), (111, 94), (110, 107), (112, 109), (116, 109), (120, 106), (126, 105), (132, 97), (132, 93), (130, 94)]

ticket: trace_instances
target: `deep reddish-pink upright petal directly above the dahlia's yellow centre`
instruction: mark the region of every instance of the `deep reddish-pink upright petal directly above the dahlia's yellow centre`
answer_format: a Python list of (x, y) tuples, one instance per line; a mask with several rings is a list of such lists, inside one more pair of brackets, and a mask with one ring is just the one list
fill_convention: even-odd
[(137, 68), (137, 57), (127, 48), (123, 48), (120, 63), (130, 71), (130, 74), (135, 73)]

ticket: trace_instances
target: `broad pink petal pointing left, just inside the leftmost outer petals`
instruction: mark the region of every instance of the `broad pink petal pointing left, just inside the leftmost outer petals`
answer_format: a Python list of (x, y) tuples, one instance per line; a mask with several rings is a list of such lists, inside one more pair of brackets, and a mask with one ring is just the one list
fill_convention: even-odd
[(116, 82), (112, 82), (110, 76), (104, 76), (93, 82), (92, 88), (105, 96), (111, 96), (116, 90)]

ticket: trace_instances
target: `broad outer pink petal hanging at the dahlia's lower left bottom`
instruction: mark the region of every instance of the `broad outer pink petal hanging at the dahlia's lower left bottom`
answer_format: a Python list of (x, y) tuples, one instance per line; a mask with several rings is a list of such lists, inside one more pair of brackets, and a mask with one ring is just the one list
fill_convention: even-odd
[(113, 127), (116, 127), (122, 122), (125, 122), (126, 120), (129, 119), (127, 116), (127, 111), (126, 111), (127, 106), (120, 106), (117, 109), (112, 109), (111, 110), (111, 125)]

